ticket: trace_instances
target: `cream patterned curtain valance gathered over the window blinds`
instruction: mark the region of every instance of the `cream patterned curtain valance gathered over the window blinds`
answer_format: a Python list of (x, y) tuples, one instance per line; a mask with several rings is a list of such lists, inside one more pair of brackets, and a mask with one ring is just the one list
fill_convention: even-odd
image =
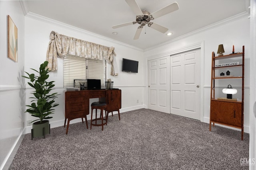
[(116, 53), (114, 47), (83, 41), (66, 35), (58, 34), (55, 31), (50, 33), (50, 43), (46, 54), (49, 70), (57, 70), (57, 57), (66, 55), (85, 57), (88, 59), (102, 60), (103, 57), (112, 64), (110, 74), (117, 76), (117, 65), (115, 61)]

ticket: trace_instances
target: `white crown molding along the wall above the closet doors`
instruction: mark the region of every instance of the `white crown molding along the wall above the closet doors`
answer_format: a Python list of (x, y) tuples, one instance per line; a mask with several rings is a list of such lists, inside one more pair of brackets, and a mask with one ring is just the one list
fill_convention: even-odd
[(187, 33), (187, 34), (184, 34), (184, 35), (181, 35), (180, 37), (177, 37), (177, 38), (174, 38), (170, 41), (166, 41), (164, 43), (161, 43), (161, 44), (158, 44), (156, 46), (153, 46), (153, 47), (150, 47), (150, 48), (147, 48), (145, 49), (144, 51), (147, 51), (147, 50), (151, 50), (151, 49), (155, 49), (157, 47), (161, 47), (163, 45), (166, 45), (166, 44), (169, 44), (169, 43), (172, 43), (172, 42), (175, 42), (175, 41), (178, 41), (178, 40), (181, 40), (181, 39), (184, 39), (186, 37), (190, 37), (192, 35), (195, 35), (195, 34), (198, 34), (198, 33), (201, 33), (201, 32), (204, 32), (204, 31), (207, 31), (207, 30), (210, 30), (210, 29), (213, 29), (215, 27), (219, 27), (221, 25), (225, 25), (227, 23), (230, 23), (230, 22), (233, 22), (233, 21), (236, 21), (236, 20), (240, 20), (241, 18), (248, 18), (248, 16), (250, 16), (250, 14), (248, 12), (242, 12), (240, 14), (237, 14), (235, 16), (232, 16), (232, 17), (229, 17), (229, 18), (226, 18), (224, 20), (221, 20), (221, 21), (218, 21), (216, 23), (213, 23), (213, 24), (210, 24), (210, 25), (207, 25), (205, 27), (202, 27), (200, 29), (197, 29), (195, 31), (192, 31), (190, 33)]

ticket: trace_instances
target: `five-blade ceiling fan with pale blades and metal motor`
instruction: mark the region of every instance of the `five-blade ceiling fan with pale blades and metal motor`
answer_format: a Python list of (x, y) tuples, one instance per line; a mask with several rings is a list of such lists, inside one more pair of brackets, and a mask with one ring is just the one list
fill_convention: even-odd
[(146, 24), (148, 24), (149, 27), (151, 27), (157, 31), (160, 31), (161, 33), (166, 33), (166, 31), (168, 31), (168, 28), (163, 27), (162, 25), (159, 25), (157, 23), (150, 22), (150, 21), (179, 9), (178, 3), (174, 2), (170, 5), (150, 14), (150, 12), (148, 12), (146, 10), (141, 10), (135, 0), (125, 0), (125, 1), (130, 6), (130, 8), (132, 8), (133, 12), (136, 14), (136, 21), (122, 23), (119, 25), (114, 25), (114, 26), (112, 26), (112, 28), (116, 29), (119, 27), (124, 27), (127, 25), (132, 25), (132, 24), (138, 23), (140, 26), (138, 27), (138, 29), (134, 35), (134, 39), (138, 39), (140, 37), (142, 28)]

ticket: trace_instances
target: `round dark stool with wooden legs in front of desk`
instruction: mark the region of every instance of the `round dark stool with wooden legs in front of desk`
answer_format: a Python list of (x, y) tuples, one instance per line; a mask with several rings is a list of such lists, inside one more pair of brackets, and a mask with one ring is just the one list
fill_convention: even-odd
[[(107, 108), (107, 104), (105, 102), (93, 102), (91, 104), (91, 108), (92, 111), (93, 109), (96, 109), (96, 115), (95, 115), (95, 119), (92, 120), (92, 113), (91, 113), (91, 130), (92, 130), (92, 125), (93, 126), (102, 126), (102, 131), (103, 131), (103, 125), (106, 125), (107, 123), (107, 119), (103, 119), (103, 110), (105, 110), (105, 118), (107, 117), (106, 114), (106, 108)], [(100, 118), (97, 118), (97, 109), (100, 109)], [(101, 124), (97, 124), (97, 120), (101, 120)], [(93, 121), (95, 121), (95, 123), (92, 123)]]

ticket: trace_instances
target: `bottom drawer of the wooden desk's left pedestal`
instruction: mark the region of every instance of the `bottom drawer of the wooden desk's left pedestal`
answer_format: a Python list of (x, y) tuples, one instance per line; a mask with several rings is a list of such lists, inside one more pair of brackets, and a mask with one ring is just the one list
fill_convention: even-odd
[(80, 117), (85, 117), (88, 114), (89, 114), (89, 107), (66, 109), (65, 118), (67, 119), (80, 118)]

